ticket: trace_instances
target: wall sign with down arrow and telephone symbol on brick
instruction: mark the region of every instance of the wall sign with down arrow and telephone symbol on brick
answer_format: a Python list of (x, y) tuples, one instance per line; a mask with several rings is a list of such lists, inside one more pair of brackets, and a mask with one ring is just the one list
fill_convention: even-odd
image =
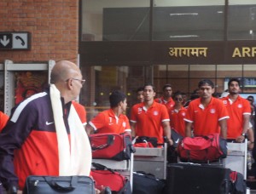
[(0, 32), (0, 49), (30, 49), (29, 40), (29, 32)]

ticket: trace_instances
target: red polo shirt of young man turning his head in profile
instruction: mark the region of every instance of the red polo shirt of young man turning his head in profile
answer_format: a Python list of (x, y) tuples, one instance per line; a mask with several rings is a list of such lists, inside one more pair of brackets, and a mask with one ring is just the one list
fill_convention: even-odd
[(123, 114), (116, 117), (112, 109), (100, 112), (89, 124), (98, 133), (121, 134), (125, 131), (131, 131), (129, 119)]

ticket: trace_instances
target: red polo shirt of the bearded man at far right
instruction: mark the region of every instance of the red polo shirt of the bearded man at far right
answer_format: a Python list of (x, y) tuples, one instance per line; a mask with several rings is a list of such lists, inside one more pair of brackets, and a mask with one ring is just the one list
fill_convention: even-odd
[(223, 100), (224, 106), (226, 106), (230, 115), (227, 138), (236, 139), (242, 133), (243, 116), (251, 115), (250, 103), (240, 95), (234, 102), (230, 100), (229, 95), (221, 100)]

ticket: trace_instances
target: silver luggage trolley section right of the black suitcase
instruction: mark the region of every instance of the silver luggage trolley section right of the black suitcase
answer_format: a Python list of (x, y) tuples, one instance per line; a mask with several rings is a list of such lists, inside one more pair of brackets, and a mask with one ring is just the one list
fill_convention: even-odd
[(228, 154), (224, 158), (224, 168), (230, 168), (243, 174), (247, 179), (247, 139), (243, 143), (228, 142)]

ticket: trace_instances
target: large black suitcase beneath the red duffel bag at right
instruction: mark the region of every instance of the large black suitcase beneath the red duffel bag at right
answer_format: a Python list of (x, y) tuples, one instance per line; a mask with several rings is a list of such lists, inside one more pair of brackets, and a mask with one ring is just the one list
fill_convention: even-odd
[(165, 194), (228, 194), (230, 169), (172, 163), (167, 166)]

